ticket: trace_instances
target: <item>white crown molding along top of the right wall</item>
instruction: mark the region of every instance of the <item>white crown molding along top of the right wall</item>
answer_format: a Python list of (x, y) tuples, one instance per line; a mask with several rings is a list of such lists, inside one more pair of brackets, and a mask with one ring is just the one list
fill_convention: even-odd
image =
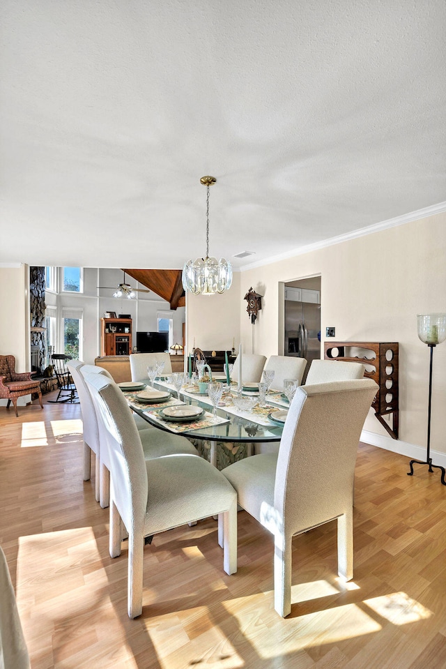
[(397, 227), (397, 225), (404, 225), (405, 223), (411, 223), (413, 220), (420, 220), (422, 218), (428, 218), (429, 216), (435, 216), (437, 213), (443, 213), (444, 211), (446, 211), (446, 202), (431, 204), (431, 206), (426, 206), (424, 207), (424, 209), (417, 209), (417, 211), (410, 211), (410, 213), (403, 213), (401, 216), (395, 216), (395, 218), (389, 218), (387, 220), (381, 221), (381, 223), (374, 223), (373, 225), (362, 227), (359, 230), (353, 230), (353, 232), (346, 232), (346, 234), (339, 234), (337, 236), (330, 237), (329, 239), (318, 241), (314, 244), (308, 244), (307, 246), (300, 246), (298, 248), (294, 248), (293, 250), (286, 251), (286, 253), (281, 253), (279, 255), (274, 255), (272, 257), (265, 258), (264, 260), (250, 262), (249, 264), (241, 266), (240, 271), (244, 272), (249, 269), (255, 269), (256, 267), (261, 267), (263, 265), (270, 265), (273, 262), (288, 260), (289, 258), (293, 258), (297, 255), (304, 255), (305, 253), (311, 253), (312, 251), (317, 251), (321, 248), (327, 248), (328, 246), (341, 244), (344, 241), (357, 239), (357, 237), (363, 237), (366, 236), (367, 234), (373, 234), (374, 232), (387, 230), (390, 227)]

